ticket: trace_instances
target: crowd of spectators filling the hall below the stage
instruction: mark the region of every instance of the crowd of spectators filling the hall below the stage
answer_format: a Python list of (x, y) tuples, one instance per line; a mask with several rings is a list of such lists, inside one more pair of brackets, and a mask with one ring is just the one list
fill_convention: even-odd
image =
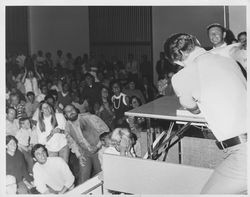
[[(243, 47), (245, 37), (238, 35)], [(6, 178), (15, 184), (10, 193), (65, 193), (100, 172), (104, 152), (141, 157), (145, 120), (124, 112), (175, 94), (171, 77), (179, 67), (163, 52), (156, 86), (146, 55), (139, 64), (133, 54), (128, 62), (94, 54), (74, 58), (62, 50), (56, 54), (54, 60), (41, 50), (6, 58)], [(78, 132), (93, 128), (89, 136)], [(95, 172), (86, 164), (90, 160)]]

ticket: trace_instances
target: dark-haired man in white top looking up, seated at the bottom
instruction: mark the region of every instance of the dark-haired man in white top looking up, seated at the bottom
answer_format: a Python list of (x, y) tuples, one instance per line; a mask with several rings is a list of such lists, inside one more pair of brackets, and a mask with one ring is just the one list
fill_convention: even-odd
[(31, 150), (36, 161), (33, 167), (34, 185), (41, 194), (64, 194), (73, 189), (75, 177), (61, 157), (48, 157), (42, 144)]

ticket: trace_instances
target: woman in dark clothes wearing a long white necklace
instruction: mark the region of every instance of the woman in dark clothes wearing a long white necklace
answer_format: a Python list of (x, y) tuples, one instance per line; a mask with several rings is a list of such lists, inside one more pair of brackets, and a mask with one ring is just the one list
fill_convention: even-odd
[(121, 85), (119, 81), (113, 81), (111, 87), (114, 95), (111, 97), (115, 113), (115, 126), (124, 125), (126, 123), (126, 117), (124, 112), (128, 111), (129, 108), (129, 97), (121, 92)]

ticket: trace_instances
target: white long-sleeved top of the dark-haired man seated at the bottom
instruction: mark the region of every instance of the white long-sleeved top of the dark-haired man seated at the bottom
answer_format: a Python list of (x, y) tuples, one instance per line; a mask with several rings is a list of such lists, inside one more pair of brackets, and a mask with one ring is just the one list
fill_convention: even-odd
[(68, 164), (61, 157), (48, 157), (45, 164), (35, 163), (33, 167), (34, 185), (40, 193), (48, 190), (47, 185), (55, 191), (65, 186), (70, 188), (75, 180)]

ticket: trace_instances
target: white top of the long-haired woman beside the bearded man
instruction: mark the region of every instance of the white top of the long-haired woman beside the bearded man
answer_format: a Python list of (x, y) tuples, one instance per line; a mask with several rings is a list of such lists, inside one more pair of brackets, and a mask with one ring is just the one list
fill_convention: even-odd
[[(55, 113), (56, 115), (56, 120), (57, 120), (57, 127), (59, 129), (64, 130), (65, 129), (65, 124), (66, 120), (61, 113)], [(37, 136), (38, 136), (38, 143), (46, 145), (46, 148), (49, 151), (52, 152), (58, 152), (61, 148), (66, 146), (67, 140), (65, 137), (65, 134), (62, 133), (56, 133), (54, 134), (49, 141), (47, 141), (47, 136), (51, 133), (51, 130), (53, 129), (51, 125), (51, 117), (44, 117), (44, 123), (45, 123), (45, 131), (41, 132), (40, 127), (39, 127), (39, 121), (37, 122)]]

